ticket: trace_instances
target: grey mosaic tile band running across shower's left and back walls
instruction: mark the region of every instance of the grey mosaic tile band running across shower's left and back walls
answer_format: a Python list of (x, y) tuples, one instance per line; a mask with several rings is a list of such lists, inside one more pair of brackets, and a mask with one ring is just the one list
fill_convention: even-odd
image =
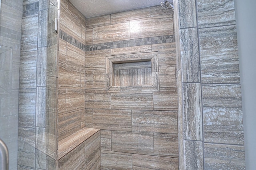
[(162, 44), (162, 43), (174, 43), (175, 42), (175, 35), (165, 35), (159, 37), (148, 37), (148, 38), (139, 38), (139, 39), (130, 39), (124, 41), (113, 41), (108, 43), (100, 43), (100, 44), (93, 44), (93, 45), (85, 45), (80, 41), (76, 40), (71, 35), (68, 35), (66, 32), (60, 29), (60, 38), (64, 41), (78, 47), (83, 51), (96, 51), (96, 50), (103, 50), (103, 49), (116, 49), (116, 48), (123, 48), (123, 47), (134, 47), (140, 45), (152, 45), (152, 44)]

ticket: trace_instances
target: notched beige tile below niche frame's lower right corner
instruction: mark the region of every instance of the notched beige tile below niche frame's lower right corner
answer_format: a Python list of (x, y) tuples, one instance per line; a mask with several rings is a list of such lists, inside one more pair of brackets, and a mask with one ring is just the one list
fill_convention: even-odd
[(177, 88), (160, 88), (160, 92), (154, 92), (154, 110), (178, 110)]

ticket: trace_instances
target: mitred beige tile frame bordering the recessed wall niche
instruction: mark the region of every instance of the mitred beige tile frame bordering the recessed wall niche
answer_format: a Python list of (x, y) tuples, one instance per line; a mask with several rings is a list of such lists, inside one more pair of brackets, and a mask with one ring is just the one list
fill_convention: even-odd
[[(151, 61), (152, 85), (113, 86), (114, 64)], [(106, 56), (106, 92), (159, 92), (158, 52)]]

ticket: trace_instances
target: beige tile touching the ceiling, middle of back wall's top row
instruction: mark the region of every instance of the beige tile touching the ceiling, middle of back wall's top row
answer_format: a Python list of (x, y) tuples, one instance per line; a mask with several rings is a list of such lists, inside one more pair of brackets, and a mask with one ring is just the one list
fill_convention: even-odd
[(150, 17), (150, 8), (140, 8), (111, 14), (111, 23)]

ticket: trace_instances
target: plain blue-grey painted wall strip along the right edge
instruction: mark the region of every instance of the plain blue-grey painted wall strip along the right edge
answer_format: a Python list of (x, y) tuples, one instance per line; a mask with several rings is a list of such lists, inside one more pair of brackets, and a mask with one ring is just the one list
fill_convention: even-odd
[(246, 169), (248, 170), (253, 170), (256, 167), (256, 162), (254, 161), (256, 156), (256, 132), (254, 130), (256, 129), (256, 90), (254, 86), (256, 83), (256, 33), (254, 30), (256, 21), (252, 20), (252, 16), (256, 16), (254, 6), (256, 6), (254, 0), (243, 2), (235, 0), (238, 56), (244, 113), (245, 162)]

